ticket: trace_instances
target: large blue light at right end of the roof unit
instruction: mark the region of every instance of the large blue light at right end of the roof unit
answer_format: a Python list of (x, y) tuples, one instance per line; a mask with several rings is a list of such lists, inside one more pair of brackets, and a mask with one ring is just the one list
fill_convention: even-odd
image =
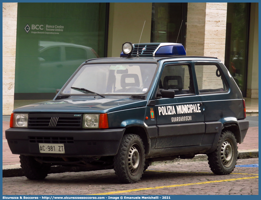
[(186, 51), (182, 45), (161, 46), (155, 53), (155, 56), (170, 56), (170, 55), (186, 55)]

